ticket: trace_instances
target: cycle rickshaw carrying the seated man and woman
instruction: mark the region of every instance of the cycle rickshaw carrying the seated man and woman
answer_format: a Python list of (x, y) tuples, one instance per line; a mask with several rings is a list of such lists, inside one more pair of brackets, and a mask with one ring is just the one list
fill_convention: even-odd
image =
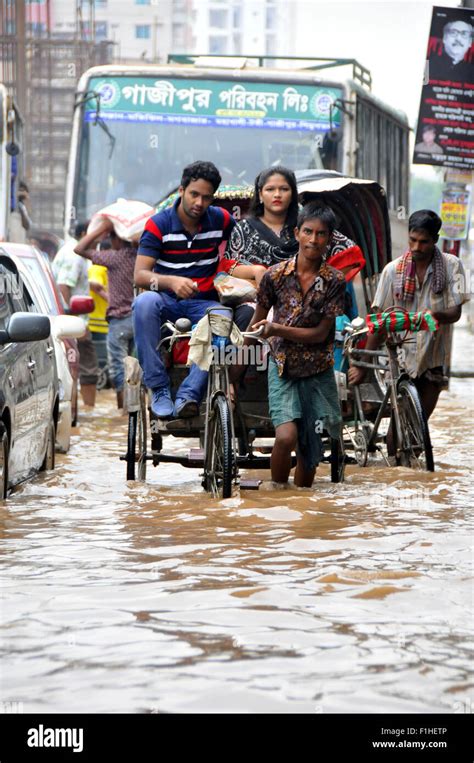
[[(253, 188), (250, 186), (224, 186), (216, 193), (214, 203), (239, 218), (247, 212), (252, 195)], [(166, 208), (174, 199), (175, 194), (172, 194), (158, 209)], [(208, 319), (214, 347), (224, 347), (232, 326), (232, 310), (222, 306), (220, 310), (210, 312)], [(227, 326), (227, 336), (222, 333), (222, 323)], [(178, 348), (181, 342), (189, 339), (190, 328), (186, 319), (163, 326), (168, 330), (168, 335), (160, 342), (159, 351)], [(255, 338), (258, 340), (258, 336)], [(168, 352), (168, 357), (170, 354), (172, 356), (173, 352)], [(265, 358), (265, 353), (262, 356)], [(270, 468), (271, 445), (260, 442), (274, 436), (268, 412), (266, 364), (262, 363), (260, 367), (252, 365), (247, 369), (244, 388), (232, 401), (227, 357), (223, 352), (214, 353), (207, 395), (199, 416), (172, 420), (157, 419), (152, 415), (138, 361), (135, 358), (126, 359), (124, 406), (129, 418), (127, 453), (122, 459), (126, 461), (128, 480), (138, 478), (144, 481), (148, 462), (153, 466), (175, 463), (202, 469), (204, 489), (221, 498), (229, 498), (233, 486), (237, 484), (241, 489), (258, 489), (261, 480), (241, 479), (240, 472), (243, 469)], [(175, 362), (168, 369), (172, 395), (188, 370), (182, 362)], [(199, 440), (200, 447), (191, 448), (185, 455), (167, 453), (163, 450), (163, 441), (168, 435)], [(331, 480), (340, 482), (344, 476), (342, 438), (326, 437), (324, 443), (325, 460), (331, 465)], [(292, 463), (296, 465), (296, 456), (293, 456)]]

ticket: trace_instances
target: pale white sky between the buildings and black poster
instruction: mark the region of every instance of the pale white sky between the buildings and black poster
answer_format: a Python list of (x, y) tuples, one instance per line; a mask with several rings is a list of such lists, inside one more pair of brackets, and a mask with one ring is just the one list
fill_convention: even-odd
[[(372, 74), (372, 92), (404, 111), (413, 127), (420, 104), (434, 3), (419, 0), (288, 0), (295, 6), (298, 55), (356, 58)], [(458, 0), (441, 0), (456, 7)], [(431, 167), (413, 165), (432, 176)]]

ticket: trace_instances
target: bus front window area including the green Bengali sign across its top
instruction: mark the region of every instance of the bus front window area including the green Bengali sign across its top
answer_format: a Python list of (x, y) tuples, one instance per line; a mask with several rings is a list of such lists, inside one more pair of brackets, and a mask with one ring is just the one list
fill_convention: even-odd
[[(100, 93), (100, 117), (92, 103), (85, 104), (73, 200), (77, 220), (117, 198), (155, 205), (197, 160), (214, 162), (223, 184), (253, 184), (263, 168), (276, 164), (327, 167), (322, 149), (329, 106), (340, 94), (335, 88), (329, 93), (282, 84), (131, 77), (92, 80), (91, 90)], [(340, 125), (338, 112), (331, 119)]]

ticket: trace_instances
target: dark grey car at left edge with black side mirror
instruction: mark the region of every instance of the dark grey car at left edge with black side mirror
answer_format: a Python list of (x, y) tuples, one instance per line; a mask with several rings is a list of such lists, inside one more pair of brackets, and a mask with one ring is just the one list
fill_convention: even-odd
[(51, 322), (15, 262), (0, 254), (0, 499), (54, 469), (59, 380)]

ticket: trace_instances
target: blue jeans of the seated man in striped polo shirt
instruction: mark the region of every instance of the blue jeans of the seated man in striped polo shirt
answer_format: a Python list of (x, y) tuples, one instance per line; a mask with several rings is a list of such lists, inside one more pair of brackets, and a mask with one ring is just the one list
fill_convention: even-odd
[[(143, 368), (143, 379), (149, 389), (160, 389), (169, 385), (168, 372), (157, 351), (161, 339), (161, 326), (165, 321), (189, 318), (192, 325), (204, 317), (210, 307), (221, 307), (219, 302), (200, 299), (178, 299), (168, 292), (144, 291), (136, 297), (132, 305), (133, 326), (138, 360)], [(193, 364), (189, 374), (181, 384), (176, 397), (200, 403), (206, 392), (207, 371), (201, 371)]]

